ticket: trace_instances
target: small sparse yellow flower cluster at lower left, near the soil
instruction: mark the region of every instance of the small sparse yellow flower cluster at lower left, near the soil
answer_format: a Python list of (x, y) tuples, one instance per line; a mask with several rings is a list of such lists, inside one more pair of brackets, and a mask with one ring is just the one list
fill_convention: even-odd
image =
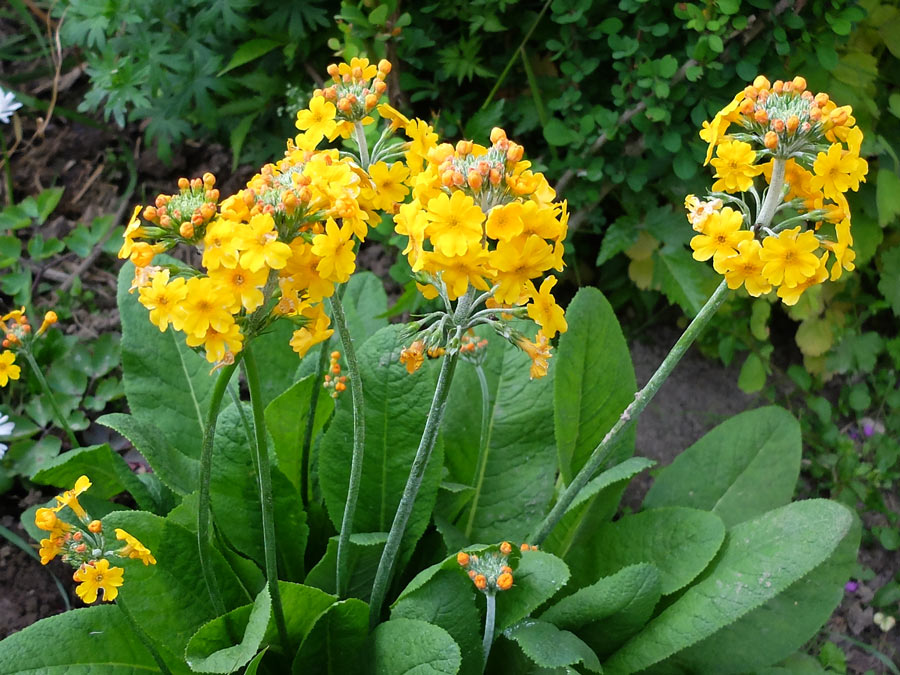
[[(144, 565), (155, 565), (156, 558), (140, 541), (119, 528), (115, 530), (116, 539), (125, 544), (118, 546), (111, 541), (107, 542), (103, 524), (99, 520), (92, 520), (78, 502), (78, 497), (89, 487), (91, 481), (87, 476), (81, 476), (75, 481), (74, 488), (56, 497), (56, 506), (40, 508), (35, 512), (35, 525), (48, 533), (47, 538), (41, 540), (41, 564), (46, 565), (57, 555), (62, 555), (64, 562), (76, 568), (74, 578), (79, 585), (75, 588), (75, 593), (79, 598), (90, 604), (103, 591), (103, 600), (112, 602), (123, 584), (124, 570), (121, 567), (110, 567), (108, 557), (134, 558)], [(60, 519), (58, 514), (64, 508), (69, 508), (75, 514), (78, 524), (73, 525)]]

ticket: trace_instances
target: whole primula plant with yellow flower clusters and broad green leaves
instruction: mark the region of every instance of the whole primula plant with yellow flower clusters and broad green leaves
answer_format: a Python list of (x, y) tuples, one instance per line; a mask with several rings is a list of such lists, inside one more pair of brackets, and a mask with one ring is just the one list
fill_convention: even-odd
[[(653, 464), (632, 456), (635, 420), (729, 288), (791, 302), (829, 255), (832, 276), (852, 269), (850, 111), (759, 78), (704, 127), (718, 180), (689, 219), (725, 280), (636, 391), (603, 295), (553, 296), (567, 208), (524, 148), (499, 127), (442, 142), (380, 100), (390, 71), (330, 66), (284, 158), (236, 194), (204, 175), (135, 209), (130, 414), (100, 422), (153, 471), (99, 445), (35, 477), (66, 489), (25, 515), (43, 561), (101, 604), (0, 643), (0, 670), (804, 667), (859, 530), (840, 504), (791, 503), (789, 413), (725, 421), (614, 517)], [(407, 325), (356, 272), (383, 221), (426, 307)], [(121, 492), (138, 508), (106, 501)]]

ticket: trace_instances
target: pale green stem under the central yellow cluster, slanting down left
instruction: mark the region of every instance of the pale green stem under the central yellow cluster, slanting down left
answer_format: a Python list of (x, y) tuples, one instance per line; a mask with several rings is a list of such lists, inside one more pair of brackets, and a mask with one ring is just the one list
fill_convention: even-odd
[[(460, 300), (462, 301), (462, 298)], [(462, 329), (458, 328), (457, 339), (461, 338), (461, 333)], [(391, 531), (388, 533), (381, 560), (378, 562), (378, 571), (375, 573), (375, 582), (372, 585), (372, 597), (369, 600), (369, 626), (373, 628), (381, 617), (381, 606), (384, 603), (388, 586), (391, 583), (397, 551), (400, 549), (400, 542), (403, 538), (403, 533), (406, 531), (406, 524), (412, 513), (419, 487), (422, 485), (425, 467), (428, 465), (431, 451), (434, 449), (438, 429), (444, 417), (447, 396), (450, 393), (450, 382), (453, 380), (453, 373), (456, 370), (458, 360), (459, 351), (456, 350), (447, 354), (444, 357), (444, 362), (441, 364), (441, 372), (438, 375), (434, 397), (431, 399), (431, 409), (428, 411), (428, 418), (425, 420), (425, 430), (422, 432), (419, 448), (416, 450), (416, 457), (409, 470), (406, 487), (403, 489), (403, 496), (400, 498), (400, 504), (397, 506), (397, 512), (394, 514), (394, 522), (391, 523)]]

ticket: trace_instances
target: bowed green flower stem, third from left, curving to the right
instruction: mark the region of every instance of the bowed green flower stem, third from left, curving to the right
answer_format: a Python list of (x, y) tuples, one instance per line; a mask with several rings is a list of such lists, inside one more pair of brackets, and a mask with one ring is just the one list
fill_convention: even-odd
[(356, 361), (353, 340), (347, 329), (347, 319), (344, 316), (344, 306), (341, 304), (340, 294), (331, 297), (331, 314), (334, 317), (334, 325), (341, 336), (341, 345), (347, 359), (347, 371), (350, 373), (350, 395), (353, 402), (353, 455), (350, 459), (350, 482), (347, 485), (347, 501), (344, 503), (341, 532), (338, 535), (337, 564), (335, 566), (335, 590), (338, 597), (343, 597), (349, 582), (347, 557), (350, 535), (353, 533), (353, 518), (356, 515), (356, 501), (359, 498), (359, 484), (362, 480), (363, 455), (366, 450), (366, 417), (362, 376), (359, 373), (359, 363)]

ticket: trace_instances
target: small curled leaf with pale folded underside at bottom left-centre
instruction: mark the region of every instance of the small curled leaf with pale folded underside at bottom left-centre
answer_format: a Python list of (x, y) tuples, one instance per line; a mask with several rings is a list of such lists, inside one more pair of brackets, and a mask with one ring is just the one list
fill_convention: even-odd
[[(216, 617), (194, 633), (185, 659), (198, 673), (233, 673), (247, 665), (259, 650), (272, 614), (272, 598), (264, 586), (252, 605)], [(240, 643), (234, 636), (243, 632)]]

